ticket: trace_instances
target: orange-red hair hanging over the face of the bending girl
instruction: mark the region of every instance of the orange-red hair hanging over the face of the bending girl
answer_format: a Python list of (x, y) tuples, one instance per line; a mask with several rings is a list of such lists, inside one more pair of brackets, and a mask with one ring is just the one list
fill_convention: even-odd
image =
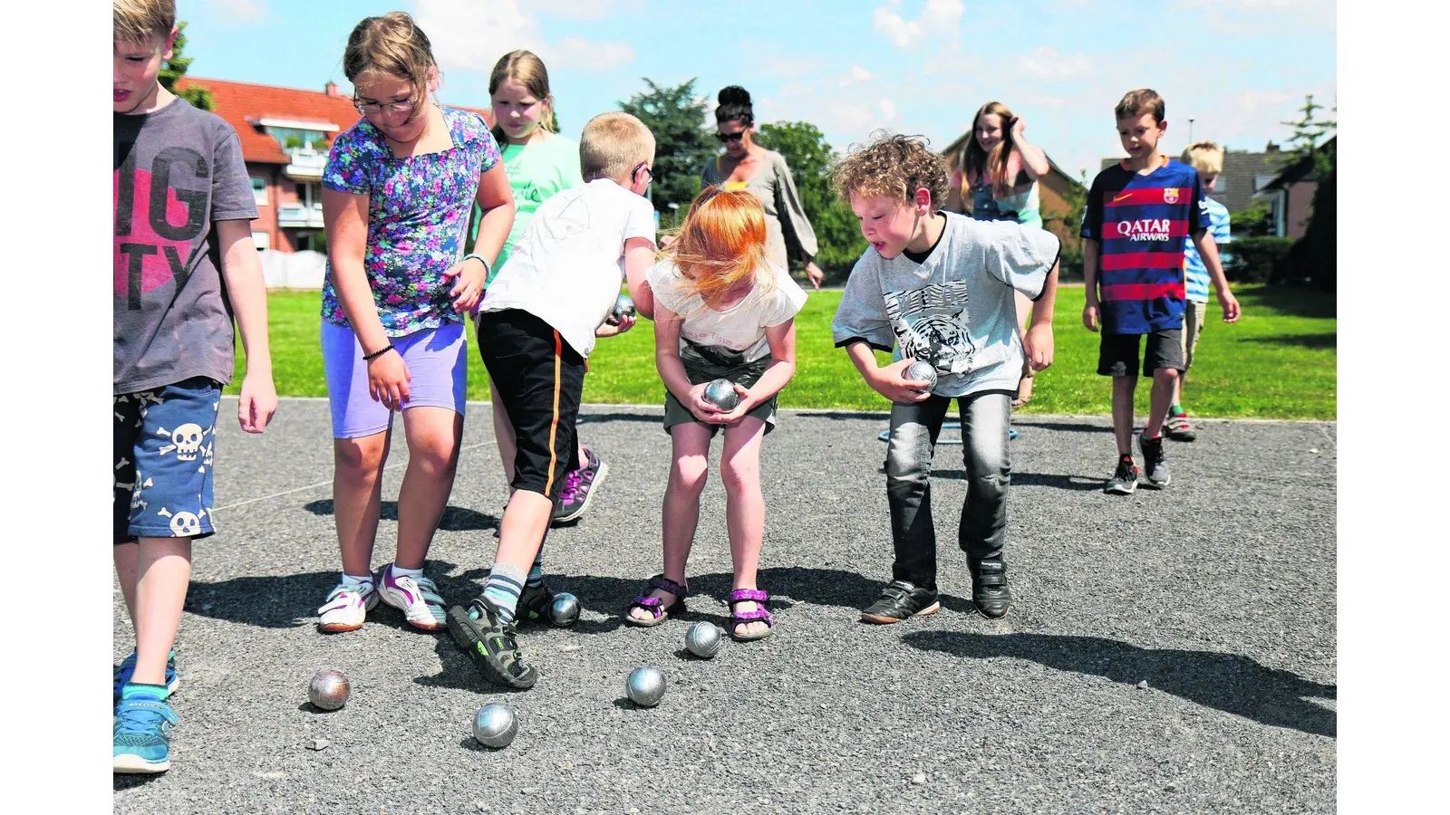
[(766, 210), (747, 190), (706, 187), (690, 204), (677, 238), (664, 251), (684, 277), (686, 290), (706, 307), (719, 307), (742, 280), (758, 276), (761, 293), (774, 287), (768, 267)]

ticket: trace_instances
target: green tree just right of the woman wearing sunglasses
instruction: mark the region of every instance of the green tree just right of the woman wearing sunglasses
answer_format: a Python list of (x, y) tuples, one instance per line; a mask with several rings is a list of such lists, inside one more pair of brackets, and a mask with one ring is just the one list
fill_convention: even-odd
[[(828, 281), (841, 281), (866, 251), (866, 238), (851, 207), (831, 186), (835, 154), (819, 128), (809, 122), (774, 122), (757, 129), (755, 142), (779, 152), (800, 193), (800, 206), (816, 235), (816, 265)], [(795, 268), (799, 261), (792, 260)]]

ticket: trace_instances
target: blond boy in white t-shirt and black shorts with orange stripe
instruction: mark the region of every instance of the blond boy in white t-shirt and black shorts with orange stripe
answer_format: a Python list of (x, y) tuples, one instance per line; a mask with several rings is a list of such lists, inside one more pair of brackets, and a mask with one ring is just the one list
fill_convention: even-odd
[(478, 307), (478, 351), (518, 452), (489, 583), (467, 608), (448, 609), (448, 632), (486, 679), (506, 687), (538, 679), (521, 660), (515, 612), (564, 476), (579, 466), (584, 361), (596, 336), (634, 325), (634, 318), (605, 323), (621, 273), (638, 312), (654, 313), (644, 283), (655, 252), (654, 209), (642, 197), (654, 177), (654, 135), (628, 113), (602, 113), (584, 125), (579, 155), (584, 186), (538, 207)]

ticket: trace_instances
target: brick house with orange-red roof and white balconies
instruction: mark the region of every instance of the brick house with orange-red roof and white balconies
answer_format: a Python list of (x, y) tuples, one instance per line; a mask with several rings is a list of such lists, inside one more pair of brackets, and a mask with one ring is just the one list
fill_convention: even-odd
[[(322, 168), (332, 139), (358, 120), (352, 99), (334, 83), (320, 91), (202, 77), (183, 77), (178, 83), (180, 88), (193, 86), (212, 91), (212, 112), (226, 119), (241, 138), (257, 199), (258, 218), (252, 222), (257, 248), (325, 252)], [(493, 125), (493, 110), (461, 109), (480, 113)]]

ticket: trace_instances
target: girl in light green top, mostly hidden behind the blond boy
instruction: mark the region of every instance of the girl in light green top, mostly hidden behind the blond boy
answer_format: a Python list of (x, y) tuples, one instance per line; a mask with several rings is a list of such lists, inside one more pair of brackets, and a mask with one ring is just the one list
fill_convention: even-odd
[[(489, 94), (496, 122), (493, 138), (503, 148), (503, 168), (513, 189), (515, 207), (513, 229), (489, 271), (489, 283), (493, 283), (503, 264), (509, 262), (515, 241), (534, 219), (534, 210), (554, 193), (583, 186), (584, 180), (579, 173), (579, 144), (557, 132), (548, 71), (538, 57), (529, 51), (512, 51), (500, 57), (489, 77)], [(493, 387), (492, 380), (489, 387)], [(512, 484), (516, 454), (513, 425), (497, 397), (493, 400), (493, 434), (503, 458), (503, 473)], [(579, 470), (564, 477), (564, 493), (554, 508), (554, 524), (580, 518), (609, 473), (609, 467), (583, 441), (579, 444)], [(547, 613), (551, 599), (550, 590), (542, 584), (541, 561), (536, 560), (519, 597), (519, 608), (528, 609), (531, 618), (538, 618)]]

